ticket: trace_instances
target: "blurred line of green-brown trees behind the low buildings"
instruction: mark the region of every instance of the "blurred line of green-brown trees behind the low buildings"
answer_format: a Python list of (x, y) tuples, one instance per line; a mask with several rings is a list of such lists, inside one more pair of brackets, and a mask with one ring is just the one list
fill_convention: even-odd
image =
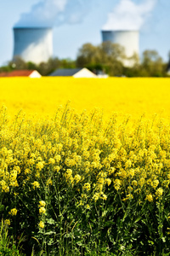
[[(125, 65), (129, 61), (130, 66)], [(12, 61), (8, 61), (6, 66), (0, 67), (0, 72), (36, 69), (42, 76), (53, 73), (58, 68), (87, 67), (92, 72), (106, 73), (109, 76), (126, 77), (166, 77), (170, 63), (162, 60), (156, 50), (144, 50), (141, 59), (138, 55), (127, 58), (123, 47), (119, 44), (104, 42), (97, 46), (93, 44), (83, 44), (77, 52), (76, 60), (50, 58), (47, 62), (40, 64), (31, 61), (23, 61), (20, 56), (15, 56)]]

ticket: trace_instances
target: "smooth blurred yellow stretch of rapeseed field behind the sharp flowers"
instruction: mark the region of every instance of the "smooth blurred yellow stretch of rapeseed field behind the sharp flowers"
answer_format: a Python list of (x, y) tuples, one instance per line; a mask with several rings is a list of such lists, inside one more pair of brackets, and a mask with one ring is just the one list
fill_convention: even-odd
[(59, 105), (71, 101), (79, 113), (92, 108), (105, 114), (170, 113), (170, 79), (74, 79), (1, 78), (0, 104), (16, 113), (54, 113)]

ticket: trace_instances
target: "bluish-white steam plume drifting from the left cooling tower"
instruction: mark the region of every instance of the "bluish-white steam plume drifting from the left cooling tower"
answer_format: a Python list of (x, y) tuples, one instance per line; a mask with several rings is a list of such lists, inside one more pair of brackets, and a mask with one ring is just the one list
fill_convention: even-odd
[(59, 26), (79, 23), (88, 12), (84, 0), (42, 0), (32, 6), (30, 13), (22, 14), (14, 27)]

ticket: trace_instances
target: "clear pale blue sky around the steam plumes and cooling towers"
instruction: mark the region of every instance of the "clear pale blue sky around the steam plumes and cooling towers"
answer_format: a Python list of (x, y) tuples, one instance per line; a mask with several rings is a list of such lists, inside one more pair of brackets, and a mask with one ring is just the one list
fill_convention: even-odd
[[(31, 12), (31, 7), (42, 1), (50, 0), (0, 0), (0, 66), (12, 59), (14, 48), (13, 26), (20, 20), (20, 15)], [(56, 0), (60, 3), (73, 0)], [(169, 0), (74, 0), (80, 2), (81, 19), (77, 23), (63, 22), (54, 26), (54, 56), (75, 59), (78, 49), (85, 43), (101, 43), (101, 28), (105, 25), (108, 14), (116, 9), (121, 1), (144, 4), (155, 1), (154, 7), (144, 17), (140, 28), (139, 49), (156, 49), (164, 61), (170, 51), (170, 1)], [(82, 2), (81, 2), (82, 1)], [(78, 9), (77, 9), (78, 10)], [(135, 21), (134, 21), (135, 22)]]

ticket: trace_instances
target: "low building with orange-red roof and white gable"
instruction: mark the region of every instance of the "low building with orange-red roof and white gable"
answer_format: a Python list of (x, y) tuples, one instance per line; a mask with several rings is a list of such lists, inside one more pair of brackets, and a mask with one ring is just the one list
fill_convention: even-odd
[(31, 79), (41, 78), (41, 74), (37, 70), (14, 70), (12, 72), (2, 72), (0, 77), (28, 77)]

